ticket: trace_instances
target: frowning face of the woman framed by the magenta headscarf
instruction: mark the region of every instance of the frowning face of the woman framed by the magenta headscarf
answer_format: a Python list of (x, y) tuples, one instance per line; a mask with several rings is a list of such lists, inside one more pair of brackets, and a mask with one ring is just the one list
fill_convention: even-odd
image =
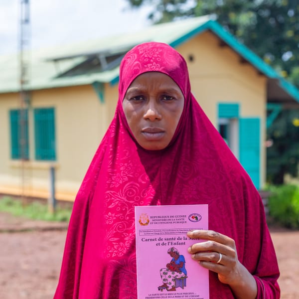
[(148, 72), (129, 86), (123, 109), (141, 147), (164, 149), (170, 143), (184, 107), (184, 96), (167, 75)]

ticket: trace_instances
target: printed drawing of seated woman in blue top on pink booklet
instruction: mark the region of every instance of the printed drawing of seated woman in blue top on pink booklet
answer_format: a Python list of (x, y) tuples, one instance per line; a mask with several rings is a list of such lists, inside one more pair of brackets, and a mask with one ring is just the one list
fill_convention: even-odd
[(166, 268), (160, 270), (160, 276), (163, 284), (158, 287), (161, 291), (166, 289), (167, 291), (176, 291), (175, 279), (182, 278), (187, 275), (185, 268), (185, 258), (180, 255), (178, 250), (174, 247), (168, 249), (167, 253), (172, 257), (170, 263), (166, 265)]

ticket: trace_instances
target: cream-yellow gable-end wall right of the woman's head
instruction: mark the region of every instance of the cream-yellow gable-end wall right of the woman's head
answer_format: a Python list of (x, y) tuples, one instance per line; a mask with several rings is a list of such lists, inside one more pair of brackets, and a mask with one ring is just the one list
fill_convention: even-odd
[(242, 63), (231, 48), (220, 46), (220, 40), (211, 32), (196, 36), (177, 50), (187, 61), (192, 93), (217, 129), (220, 102), (239, 103), (240, 117), (261, 120), (260, 186), (263, 186), (266, 178), (266, 77), (249, 63)]

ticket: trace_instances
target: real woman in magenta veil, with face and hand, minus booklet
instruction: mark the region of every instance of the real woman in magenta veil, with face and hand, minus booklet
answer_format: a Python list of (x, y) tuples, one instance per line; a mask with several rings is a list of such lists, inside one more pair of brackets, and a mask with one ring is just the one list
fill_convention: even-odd
[(138, 45), (120, 66), (115, 117), (75, 200), (60, 298), (137, 299), (134, 207), (208, 204), (206, 240), (188, 249), (210, 271), (211, 299), (279, 298), (261, 198), (190, 91), (170, 46)]

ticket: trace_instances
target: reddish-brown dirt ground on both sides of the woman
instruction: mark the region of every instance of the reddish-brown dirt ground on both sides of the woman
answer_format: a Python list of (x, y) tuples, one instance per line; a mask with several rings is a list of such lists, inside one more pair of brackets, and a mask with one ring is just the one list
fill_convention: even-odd
[[(0, 213), (0, 299), (52, 299), (66, 224)], [(271, 228), (282, 299), (299, 299), (299, 231)]]

